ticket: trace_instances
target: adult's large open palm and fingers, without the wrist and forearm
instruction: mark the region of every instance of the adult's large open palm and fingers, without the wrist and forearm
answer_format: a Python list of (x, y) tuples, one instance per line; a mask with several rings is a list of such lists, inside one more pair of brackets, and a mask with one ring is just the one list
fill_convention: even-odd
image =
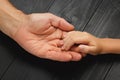
[(13, 38), (26, 51), (40, 58), (57, 61), (80, 60), (80, 54), (61, 50), (63, 30), (73, 30), (73, 26), (49, 13), (31, 14)]

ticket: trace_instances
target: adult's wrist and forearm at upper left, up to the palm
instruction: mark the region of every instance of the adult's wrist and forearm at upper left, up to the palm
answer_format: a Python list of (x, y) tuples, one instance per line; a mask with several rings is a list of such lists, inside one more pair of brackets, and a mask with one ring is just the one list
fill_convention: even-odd
[(0, 31), (13, 37), (26, 19), (27, 16), (13, 7), (7, 0), (0, 1)]

